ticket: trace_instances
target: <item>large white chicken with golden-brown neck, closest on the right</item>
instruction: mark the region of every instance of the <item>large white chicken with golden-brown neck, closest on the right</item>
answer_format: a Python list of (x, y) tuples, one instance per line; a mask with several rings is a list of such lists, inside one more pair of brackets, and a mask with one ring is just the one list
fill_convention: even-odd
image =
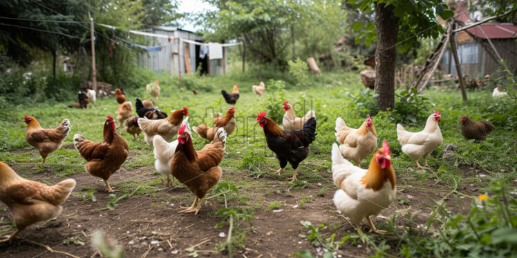
[(332, 179), (339, 188), (333, 201), (337, 209), (357, 227), (359, 235), (363, 234), (359, 223), (365, 217), (370, 224), (370, 231), (385, 233), (375, 228), (370, 216), (378, 215), (395, 199), (396, 179), (390, 155), (390, 146), (384, 141), (366, 170), (344, 159), (337, 144), (332, 145)]

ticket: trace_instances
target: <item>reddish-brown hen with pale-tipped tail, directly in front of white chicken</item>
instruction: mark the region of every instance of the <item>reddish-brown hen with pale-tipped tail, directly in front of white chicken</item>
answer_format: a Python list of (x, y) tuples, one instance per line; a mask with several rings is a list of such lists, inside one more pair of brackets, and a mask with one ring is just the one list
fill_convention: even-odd
[(196, 151), (185, 128), (186, 126), (182, 125), (178, 131), (179, 144), (171, 161), (171, 174), (196, 195), (194, 204), (180, 212), (195, 212), (197, 215), (203, 204), (203, 197), (218, 183), (223, 173), (219, 163), (223, 160), (225, 152), (226, 132), (225, 129), (219, 128), (214, 141), (205, 145), (203, 150)]

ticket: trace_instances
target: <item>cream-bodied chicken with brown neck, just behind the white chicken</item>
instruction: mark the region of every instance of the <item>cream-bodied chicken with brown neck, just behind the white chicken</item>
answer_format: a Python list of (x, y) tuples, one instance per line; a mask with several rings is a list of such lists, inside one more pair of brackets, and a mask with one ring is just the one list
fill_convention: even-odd
[(147, 143), (153, 145), (153, 137), (160, 135), (167, 142), (170, 142), (178, 129), (180, 128), (183, 117), (189, 115), (189, 109), (183, 107), (183, 109), (175, 110), (165, 119), (149, 120), (147, 117), (140, 117), (138, 119), (138, 125), (142, 132), (144, 132), (144, 139)]

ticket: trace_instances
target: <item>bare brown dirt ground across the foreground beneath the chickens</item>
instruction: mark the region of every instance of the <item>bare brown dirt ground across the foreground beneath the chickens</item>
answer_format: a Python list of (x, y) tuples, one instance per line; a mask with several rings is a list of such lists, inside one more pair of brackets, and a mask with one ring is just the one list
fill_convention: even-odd
[[(39, 171), (37, 166), (20, 163), (8, 163), (8, 165), (20, 175), (45, 183), (57, 183), (67, 178), (58, 177), (51, 172), (52, 166), (45, 166)], [(151, 166), (122, 169), (109, 181), (115, 187), (128, 179), (136, 179), (136, 185), (148, 183), (160, 177), (153, 175), (153, 172), (154, 168)], [(300, 172), (303, 174), (303, 168)], [(332, 181), (332, 175), (326, 170), (321, 169), (320, 174), (328, 180), (327, 184)], [(299, 236), (307, 234), (306, 228), (300, 224), (300, 221), (311, 221), (313, 225), (325, 224), (327, 227), (321, 230), (325, 237), (336, 233), (336, 239), (340, 239), (345, 235), (356, 233), (355, 228), (339, 215), (332, 203), (335, 188), (322, 191), (317, 183), (309, 183), (306, 188), (288, 190), (289, 175), (285, 180), (267, 175), (256, 179), (245, 172), (234, 172), (228, 176), (236, 182), (247, 181), (259, 185), (259, 187), (240, 191), (245, 191), (249, 196), (247, 206), (261, 206), (252, 211), (256, 216), (252, 219), (254, 231), (247, 223), (239, 222), (239, 228), (247, 233), (247, 237), (244, 240), (244, 248), (234, 250), (235, 257), (290, 257), (301, 250), (312, 250), (314, 253), (314, 246)], [(24, 239), (48, 245), (53, 250), (68, 252), (77, 257), (101, 257), (99, 252), (91, 247), (91, 235), (97, 230), (104, 230), (109, 240), (116, 240), (118, 244), (124, 246), (125, 257), (187, 257), (191, 252), (186, 249), (191, 247), (200, 257), (227, 256), (225, 252), (215, 251), (216, 246), (226, 239), (226, 237), (220, 237), (220, 233), (226, 234), (228, 230), (227, 222), (222, 228), (215, 228), (221, 220), (215, 212), (224, 208), (223, 202), (210, 199), (205, 202), (198, 215), (178, 214), (180, 206), (191, 205), (194, 195), (181, 185), (176, 184), (175, 188), (167, 189), (164, 184), (159, 184), (153, 186), (155, 192), (122, 199), (115, 209), (108, 210), (103, 208), (106, 208), (106, 204), (112, 198), (106, 192), (102, 180), (91, 177), (86, 172), (72, 175), (71, 178), (77, 181), (74, 192), (93, 188), (96, 190), (97, 201), (84, 201), (78, 195), (71, 195), (64, 203), (64, 210), (60, 217), (30, 226), (21, 233), (22, 239), (16, 239), (10, 245), (0, 244), (0, 257), (66, 257)], [(431, 213), (429, 206), (432, 205), (432, 201), (429, 198), (440, 200), (450, 190), (448, 186), (435, 184), (429, 180), (422, 183), (409, 181), (408, 186), (443, 191), (398, 188), (397, 201), (390, 208), (383, 210), (382, 216), (374, 219), (378, 228), (382, 228), (386, 217), (391, 217), (393, 212), (404, 213), (405, 210), (411, 210), (411, 213), (416, 215), (413, 221), (415, 224), (423, 224)], [(476, 188), (458, 190), (466, 195), (477, 195)], [(120, 193), (117, 196), (120, 196)], [(297, 206), (303, 198), (308, 198), (310, 201), (303, 206)], [(267, 202), (260, 200), (267, 200)], [(471, 204), (467, 199), (460, 200), (458, 195), (449, 195), (444, 201), (460, 209), (468, 208)], [(236, 200), (232, 201), (233, 203), (229, 205), (238, 206)], [(274, 201), (279, 201), (281, 206), (276, 208), (276, 212), (266, 212), (265, 208)], [(3, 210), (0, 210), (0, 217), (4, 219), (1, 225), (6, 226), (10, 223), (5, 220), (9, 220), (12, 216), (5, 205), (0, 205), (3, 207)], [(406, 220), (404, 217), (399, 217), (397, 223), (407, 225)], [(368, 226), (365, 223), (362, 226), (367, 232)], [(13, 231), (11, 230), (10, 233)], [(353, 244), (350, 240), (338, 252), (342, 257), (365, 257), (373, 253), (375, 252), (365, 248), (364, 244), (361, 247), (361, 244)]]

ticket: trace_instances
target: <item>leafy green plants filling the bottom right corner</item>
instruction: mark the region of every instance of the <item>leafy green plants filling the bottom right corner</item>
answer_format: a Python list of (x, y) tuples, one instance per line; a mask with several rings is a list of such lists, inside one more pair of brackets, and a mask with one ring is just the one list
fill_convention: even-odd
[[(487, 201), (473, 201), (468, 215), (453, 215), (438, 202), (425, 224), (424, 232), (413, 225), (400, 233), (391, 229), (402, 242), (401, 255), (406, 257), (511, 257), (517, 251), (517, 201), (509, 199), (507, 187), (495, 184), (489, 188)], [(443, 225), (435, 228), (435, 224)], [(433, 232), (434, 237), (429, 233)]]

